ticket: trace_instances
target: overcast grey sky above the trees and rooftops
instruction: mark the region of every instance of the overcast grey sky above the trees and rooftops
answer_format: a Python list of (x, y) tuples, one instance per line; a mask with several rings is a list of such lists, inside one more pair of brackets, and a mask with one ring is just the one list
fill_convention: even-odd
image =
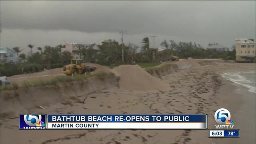
[(0, 46), (56, 46), (103, 40), (151, 47), (164, 39), (230, 47), (256, 39), (256, 1), (0, 1)]

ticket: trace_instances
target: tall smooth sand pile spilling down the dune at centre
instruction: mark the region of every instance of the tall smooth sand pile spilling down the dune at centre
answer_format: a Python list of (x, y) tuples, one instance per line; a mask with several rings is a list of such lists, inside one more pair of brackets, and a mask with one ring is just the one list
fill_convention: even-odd
[(150, 75), (138, 65), (122, 65), (113, 69), (120, 76), (119, 87), (125, 90), (168, 90), (169, 86), (160, 79)]

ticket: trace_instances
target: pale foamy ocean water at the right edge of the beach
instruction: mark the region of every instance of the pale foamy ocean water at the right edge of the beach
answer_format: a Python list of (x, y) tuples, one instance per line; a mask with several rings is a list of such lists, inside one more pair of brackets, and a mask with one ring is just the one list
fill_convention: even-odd
[(221, 75), (223, 78), (246, 88), (249, 92), (256, 93), (256, 71), (226, 72)]

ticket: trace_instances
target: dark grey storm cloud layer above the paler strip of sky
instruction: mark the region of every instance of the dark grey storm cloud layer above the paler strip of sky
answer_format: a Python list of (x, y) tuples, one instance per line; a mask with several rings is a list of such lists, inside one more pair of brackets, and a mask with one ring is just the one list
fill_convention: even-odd
[(3, 28), (82, 32), (230, 32), (255, 26), (255, 1), (2, 1), (1, 21)]

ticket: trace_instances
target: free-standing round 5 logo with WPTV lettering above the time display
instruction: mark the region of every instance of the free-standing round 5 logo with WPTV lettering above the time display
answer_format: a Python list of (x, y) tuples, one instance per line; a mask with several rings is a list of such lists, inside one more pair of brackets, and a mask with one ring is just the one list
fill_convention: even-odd
[(216, 122), (221, 124), (221, 125), (215, 125), (215, 127), (218, 129), (234, 127), (234, 121), (230, 120), (231, 114), (225, 108), (218, 109), (214, 114), (214, 118), (215, 118)]

